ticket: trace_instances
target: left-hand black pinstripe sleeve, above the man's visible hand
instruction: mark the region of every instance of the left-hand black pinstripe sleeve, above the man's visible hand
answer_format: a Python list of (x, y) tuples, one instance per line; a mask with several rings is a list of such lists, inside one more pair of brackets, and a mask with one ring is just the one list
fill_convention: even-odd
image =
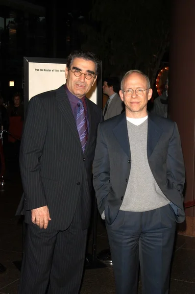
[(31, 98), (20, 147), (20, 170), (26, 210), (47, 205), (40, 177), (47, 128), (47, 117), (40, 98)]

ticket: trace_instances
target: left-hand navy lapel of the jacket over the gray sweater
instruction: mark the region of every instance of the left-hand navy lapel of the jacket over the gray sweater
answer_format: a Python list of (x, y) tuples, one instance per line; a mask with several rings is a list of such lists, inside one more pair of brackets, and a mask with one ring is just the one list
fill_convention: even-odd
[(122, 149), (130, 158), (130, 146), (129, 146), (129, 137), (128, 137), (128, 131), (127, 131), (125, 112), (119, 116), (119, 122), (114, 127), (113, 132), (115, 134), (115, 137), (119, 141), (119, 144), (121, 145)]

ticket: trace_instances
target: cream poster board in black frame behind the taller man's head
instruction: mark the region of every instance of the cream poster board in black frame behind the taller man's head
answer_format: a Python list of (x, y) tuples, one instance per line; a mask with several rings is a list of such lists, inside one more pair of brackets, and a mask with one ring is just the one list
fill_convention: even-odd
[[(40, 93), (54, 90), (66, 83), (67, 59), (24, 57), (24, 113), (29, 100)], [(86, 97), (101, 108), (101, 65), (96, 83)]]

